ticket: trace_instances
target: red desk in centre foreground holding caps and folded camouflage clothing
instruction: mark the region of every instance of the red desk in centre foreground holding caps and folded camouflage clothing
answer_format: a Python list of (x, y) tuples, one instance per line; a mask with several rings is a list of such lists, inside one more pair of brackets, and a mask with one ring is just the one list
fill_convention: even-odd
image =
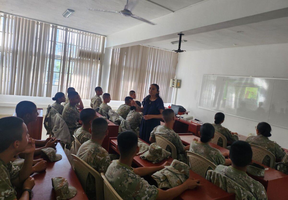
[[(117, 138), (110, 138), (110, 147), (109, 149), (113, 149), (114, 151), (116, 151), (117, 153), (119, 153), (119, 151), (117, 150)], [(140, 155), (135, 156), (133, 159), (133, 162), (139, 166), (139, 167), (153, 167), (153, 166), (159, 166), (162, 165), (164, 162), (172, 162), (173, 159), (171, 157), (169, 157), (168, 159), (165, 159), (163, 161), (161, 161), (160, 163), (154, 164), (151, 163), (147, 160), (142, 160), (140, 158)], [(181, 199), (181, 200), (190, 200), (190, 199), (197, 199), (197, 200), (216, 200), (216, 199), (221, 199), (221, 200), (234, 200), (235, 199), (235, 194), (229, 194), (226, 191), (222, 190), (221, 188), (217, 187), (216, 185), (214, 185), (213, 183), (209, 182), (208, 180), (202, 178), (201, 176), (199, 176), (198, 174), (196, 174), (195, 172), (192, 172), (190, 170), (190, 178), (194, 178), (194, 179), (199, 179), (200, 183), (202, 184), (201, 187), (198, 187), (194, 190), (186, 190), (185, 192), (183, 192), (181, 195), (179, 195), (178, 197), (176, 197), (175, 199)]]

